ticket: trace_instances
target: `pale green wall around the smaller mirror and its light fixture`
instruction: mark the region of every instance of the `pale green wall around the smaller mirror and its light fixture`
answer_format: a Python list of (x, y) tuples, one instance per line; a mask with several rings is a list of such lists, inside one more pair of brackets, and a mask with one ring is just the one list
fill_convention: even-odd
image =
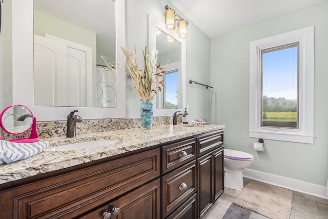
[[(142, 64), (142, 48), (148, 42), (148, 14), (165, 23), (163, 15), (165, 6), (177, 10), (178, 14), (188, 20), (169, 1), (166, 0), (126, 0), (126, 46), (135, 43), (139, 54), (138, 63)], [(189, 120), (210, 117), (210, 90), (199, 85), (189, 84), (189, 79), (203, 84), (210, 83), (210, 38), (189, 21), (187, 27), (187, 104), (190, 105)], [(131, 80), (127, 78), (127, 117), (140, 117), (140, 98), (135, 94)]]

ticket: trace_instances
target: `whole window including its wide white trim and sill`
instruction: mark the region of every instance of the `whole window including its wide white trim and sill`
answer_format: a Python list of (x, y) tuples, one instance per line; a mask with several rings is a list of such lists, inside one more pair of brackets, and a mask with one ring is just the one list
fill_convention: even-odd
[(313, 144), (313, 30), (251, 42), (250, 137)]

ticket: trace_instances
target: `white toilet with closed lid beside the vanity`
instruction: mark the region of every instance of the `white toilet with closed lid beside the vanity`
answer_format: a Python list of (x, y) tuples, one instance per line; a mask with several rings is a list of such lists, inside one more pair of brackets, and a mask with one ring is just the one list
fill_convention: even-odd
[(242, 171), (251, 166), (253, 155), (242, 151), (224, 149), (224, 187), (242, 190)]

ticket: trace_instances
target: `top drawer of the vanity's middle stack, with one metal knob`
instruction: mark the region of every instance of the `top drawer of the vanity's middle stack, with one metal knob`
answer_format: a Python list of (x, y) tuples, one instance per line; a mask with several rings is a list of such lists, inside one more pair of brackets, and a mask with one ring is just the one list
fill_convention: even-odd
[(196, 138), (162, 147), (162, 174), (196, 158)]

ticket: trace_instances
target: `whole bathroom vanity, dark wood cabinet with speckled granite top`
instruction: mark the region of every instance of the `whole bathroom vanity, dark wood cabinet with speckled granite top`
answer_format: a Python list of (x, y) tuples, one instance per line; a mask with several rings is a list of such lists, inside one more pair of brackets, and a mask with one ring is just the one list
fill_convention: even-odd
[(0, 218), (199, 218), (223, 193), (222, 128), (165, 125), (49, 138), (51, 147), (115, 136), (120, 142), (0, 166)]

